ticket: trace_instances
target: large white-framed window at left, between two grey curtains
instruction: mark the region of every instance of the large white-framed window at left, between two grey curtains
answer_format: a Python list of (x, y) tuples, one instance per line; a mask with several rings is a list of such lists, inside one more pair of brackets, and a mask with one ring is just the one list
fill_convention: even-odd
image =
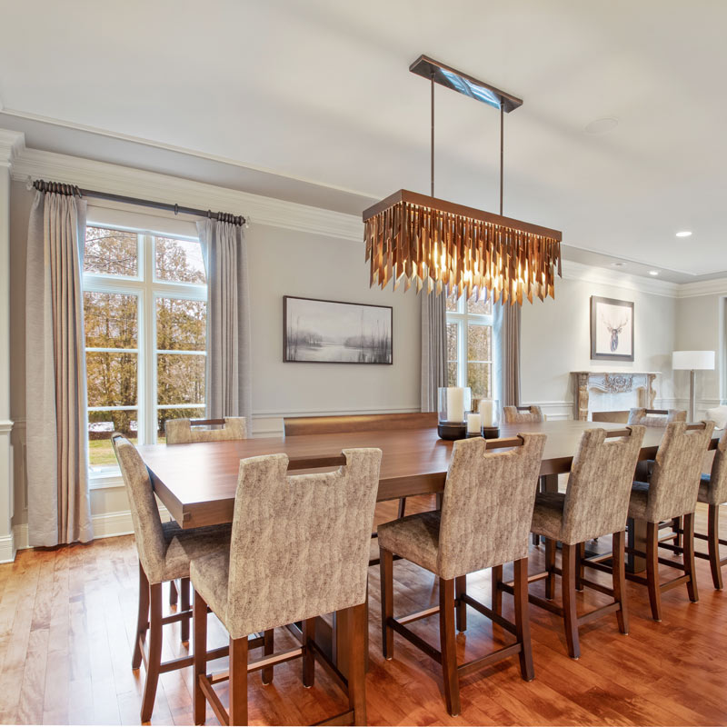
[(164, 442), (204, 413), (207, 286), (198, 240), (89, 225), (84, 315), (92, 476), (116, 470), (111, 433)]

